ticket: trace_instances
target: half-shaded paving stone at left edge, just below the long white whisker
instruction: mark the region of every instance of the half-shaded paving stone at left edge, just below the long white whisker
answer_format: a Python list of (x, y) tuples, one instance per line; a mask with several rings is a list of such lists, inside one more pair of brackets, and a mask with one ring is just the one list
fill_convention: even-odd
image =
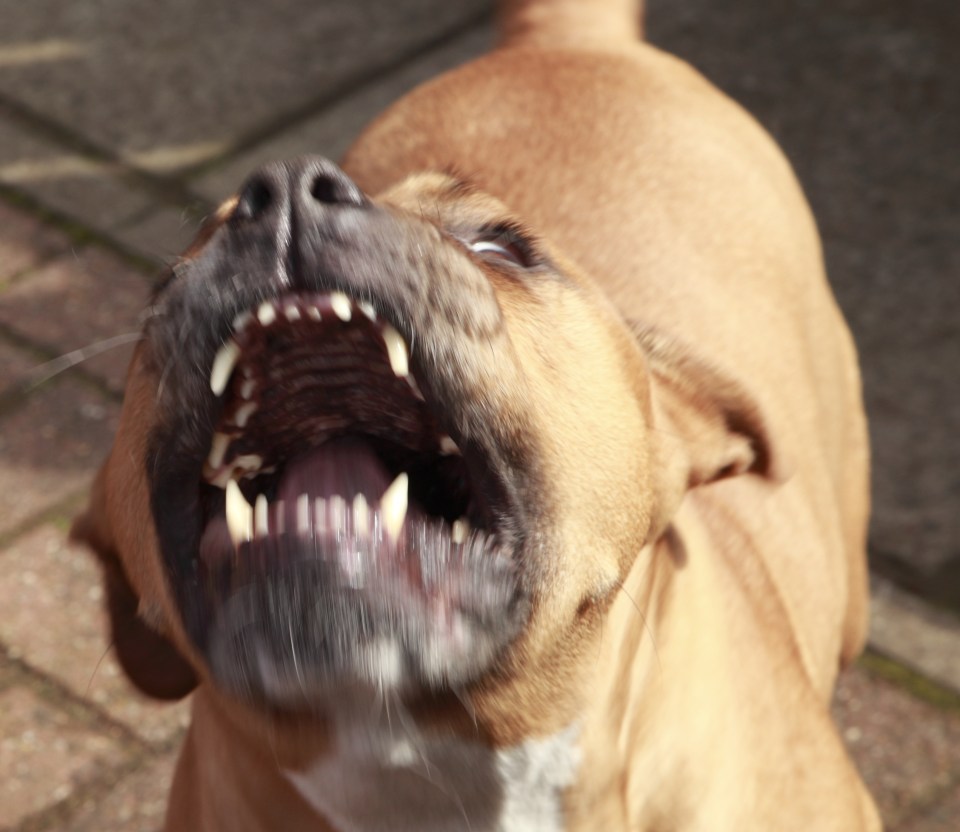
[(118, 416), (115, 404), (64, 379), (0, 419), (0, 535), (87, 486)]

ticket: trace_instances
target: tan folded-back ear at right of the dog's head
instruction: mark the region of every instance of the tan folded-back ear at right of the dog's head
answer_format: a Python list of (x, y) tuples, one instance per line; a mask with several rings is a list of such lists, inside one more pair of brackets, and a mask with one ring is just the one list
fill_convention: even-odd
[(747, 473), (783, 479), (767, 419), (742, 384), (686, 345), (631, 328), (650, 373), (661, 526), (691, 488)]

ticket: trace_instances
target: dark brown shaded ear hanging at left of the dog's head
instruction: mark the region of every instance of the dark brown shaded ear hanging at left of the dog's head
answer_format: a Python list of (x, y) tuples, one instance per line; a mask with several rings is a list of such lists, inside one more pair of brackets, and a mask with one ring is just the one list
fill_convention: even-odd
[(130, 681), (147, 696), (181, 699), (197, 685), (193, 668), (164, 635), (140, 615), (140, 599), (116, 552), (107, 519), (105, 468), (93, 484), (90, 505), (77, 517), (70, 539), (89, 546), (103, 569), (113, 646)]

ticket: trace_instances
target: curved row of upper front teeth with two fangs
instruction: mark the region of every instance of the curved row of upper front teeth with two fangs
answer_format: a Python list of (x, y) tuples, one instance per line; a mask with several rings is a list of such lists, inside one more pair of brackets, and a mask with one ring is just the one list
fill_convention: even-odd
[[(352, 320), (354, 309), (360, 310), (371, 322), (380, 323), (380, 334), (386, 345), (387, 358), (394, 375), (413, 382), (413, 377), (410, 376), (410, 351), (407, 348), (407, 342), (393, 326), (386, 322), (379, 322), (377, 313), (366, 301), (351, 300), (343, 292), (331, 292), (327, 297), (330, 309), (343, 323), (349, 323)], [(323, 312), (318, 304), (308, 304), (301, 307), (296, 303), (288, 303), (281, 306), (271, 301), (264, 301), (260, 304), (255, 315), (244, 312), (237, 316), (233, 322), (233, 337), (217, 351), (210, 368), (210, 389), (214, 395), (221, 396), (227, 389), (227, 384), (230, 382), (237, 362), (240, 360), (240, 344), (237, 342), (237, 337), (253, 320), (254, 316), (261, 326), (270, 326), (281, 316), (288, 321), (298, 321), (303, 315), (315, 321), (323, 320)], [(414, 384), (412, 383), (411, 387), (414, 392), (418, 392)]]

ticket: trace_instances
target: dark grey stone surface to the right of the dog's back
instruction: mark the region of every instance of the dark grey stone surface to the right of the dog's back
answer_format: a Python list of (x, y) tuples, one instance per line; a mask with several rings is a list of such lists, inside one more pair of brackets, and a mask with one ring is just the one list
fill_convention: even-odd
[(861, 352), (874, 564), (960, 609), (956, 3), (651, 0), (648, 19), (795, 164)]

